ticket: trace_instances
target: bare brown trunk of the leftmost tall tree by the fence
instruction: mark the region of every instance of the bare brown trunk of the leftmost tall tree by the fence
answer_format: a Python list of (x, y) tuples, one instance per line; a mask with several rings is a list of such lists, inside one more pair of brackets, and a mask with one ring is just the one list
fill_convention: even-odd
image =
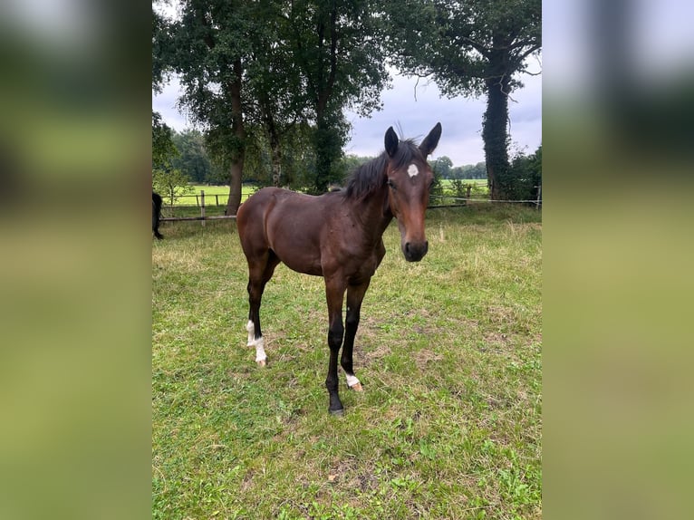
[(236, 215), (241, 206), (241, 180), (244, 176), (244, 159), (246, 159), (246, 128), (244, 127), (244, 113), (241, 107), (241, 80), (243, 77), (243, 65), (241, 60), (234, 62), (234, 82), (229, 85), (231, 96), (231, 129), (234, 135), (231, 154), (231, 168), (229, 169), (229, 200), (227, 201), (226, 215)]

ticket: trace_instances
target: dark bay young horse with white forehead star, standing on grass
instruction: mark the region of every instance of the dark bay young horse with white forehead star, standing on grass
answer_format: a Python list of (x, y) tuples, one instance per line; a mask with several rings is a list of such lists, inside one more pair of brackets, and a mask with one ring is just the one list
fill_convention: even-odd
[[(390, 127), (385, 151), (355, 169), (345, 188), (320, 196), (282, 188), (263, 188), (239, 207), (236, 226), (248, 263), (247, 345), (255, 346), (255, 361), (265, 366), (265, 340), (260, 329), (260, 303), (275, 267), (284, 263), (304, 274), (323, 276), (328, 304), (330, 361), (325, 387), (333, 415), (344, 414), (338, 392), (337, 359), (348, 388), (362, 391), (352, 367), (354, 336), (361, 302), (371, 276), (385, 255), (383, 232), (395, 217), (405, 260), (419, 262), (429, 243), (424, 218), (433, 173), (427, 156), (439, 144), (441, 124), (419, 146), (399, 140)], [(347, 313), (342, 324), (342, 301)], [(344, 343), (342, 345), (342, 340)]]

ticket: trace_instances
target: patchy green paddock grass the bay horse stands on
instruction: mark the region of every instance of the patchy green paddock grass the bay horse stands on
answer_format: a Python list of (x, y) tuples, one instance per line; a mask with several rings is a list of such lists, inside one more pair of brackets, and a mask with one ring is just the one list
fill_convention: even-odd
[(246, 347), (234, 221), (152, 243), (154, 518), (540, 518), (541, 214), (429, 210), (408, 264), (392, 223), (361, 310), (345, 416), (327, 412), (323, 279), (265, 290)]

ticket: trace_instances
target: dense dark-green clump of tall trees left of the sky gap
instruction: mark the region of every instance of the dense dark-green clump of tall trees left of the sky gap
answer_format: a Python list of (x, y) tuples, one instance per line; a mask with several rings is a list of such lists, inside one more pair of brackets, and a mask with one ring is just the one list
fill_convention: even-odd
[(247, 159), (246, 178), (261, 183), (292, 186), (308, 172), (313, 191), (339, 181), (342, 110), (370, 113), (389, 79), (371, 2), (185, 0), (180, 14), (155, 18), (154, 61), (180, 74), (180, 103), (205, 125), (215, 160), (233, 176)]

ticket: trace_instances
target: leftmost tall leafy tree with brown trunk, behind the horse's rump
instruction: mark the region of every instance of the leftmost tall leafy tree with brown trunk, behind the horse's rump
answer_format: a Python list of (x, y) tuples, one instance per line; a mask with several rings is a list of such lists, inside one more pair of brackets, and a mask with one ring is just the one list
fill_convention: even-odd
[(246, 159), (244, 96), (246, 64), (255, 35), (264, 29), (261, 4), (251, 1), (182, 0), (180, 17), (159, 31), (159, 58), (178, 72), (179, 99), (192, 120), (206, 128), (207, 145), (228, 169), (227, 215), (241, 203)]

